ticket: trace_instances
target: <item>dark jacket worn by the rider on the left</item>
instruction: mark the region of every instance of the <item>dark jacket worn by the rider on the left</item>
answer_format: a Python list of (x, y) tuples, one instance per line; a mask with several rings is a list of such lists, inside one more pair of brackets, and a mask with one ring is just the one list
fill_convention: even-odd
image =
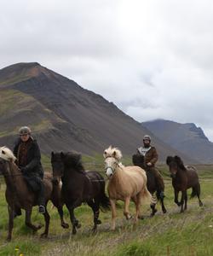
[[(40, 149), (37, 145), (37, 141), (30, 138), (32, 142), (29, 145), (29, 148), (27, 148), (27, 154), (26, 154), (26, 166), (24, 166), (24, 175), (25, 176), (37, 176), (43, 178), (43, 167), (41, 164), (41, 153)], [(18, 152), (20, 147), (21, 140), (19, 140), (15, 143), (14, 146), (14, 155), (16, 158), (18, 158)]]

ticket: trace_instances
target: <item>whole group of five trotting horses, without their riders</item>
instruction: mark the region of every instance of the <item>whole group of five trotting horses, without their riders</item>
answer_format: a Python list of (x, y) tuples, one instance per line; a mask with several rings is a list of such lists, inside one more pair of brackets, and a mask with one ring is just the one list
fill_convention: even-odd
[[(100, 172), (85, 171), (81, 154), (74, 152), (51, 153), (52, 173), (44, 172), (43, 183), (45, 188), (46, 211), (43, 213), (45, 227), (41, 236), (47, 237), (49, 234), (49, 212), (48, 201), (52, 201), (60, 214), (60, 224), (63, 228), (69, 228), (63, 218), (63, 206), (66, 205), (72, 224), (72, 234), (76, 234), (81, 227), (79, 220), (75, 217), (74, 210), (87, 203), (91, 207), (94, 216), (93, 232), (97, 230), (97, 225), (101, 224), (99, 218), (100, 209), (105, 212), (111, 208), (112, 230), (115, 230), (116, 202), (124, 201), (124, 216), (126, 219), (133, 218), (130, 214), (130, 201), (135, 203), (135, 222), (142, 218), (141, 205), (148, 201), (152, 208), (151, 216), (157, 212), (155, 205), (160, 201), (162, 212), (166, 212), (164, 207), (164, 197), (159, 196), (164, 187), (158, 188), (158, 183), (152, 172), (146, 172), (147, 166), (144, 157), (139, 154), (132, 156), (134, 166), (124, 166), (120, 160), (122, 153), (118, 148), (109, 147), (104, 151), (105, 172), (108, 179), (106, 194), (106, 179)], [(181, 207), (181, 212), (187, 209), (187, 189), (192, 188), (191, 196), (200, 201), (200, 184), (196, 169), (193, 166), (184, 166), (180, 157), (168, 156), (166, 163), (169, 166), (170, 177), (175, 192), (175, 202)], [(37, 205), (37, 196), (27, 186), (25, 178), (20, 169), (15, 165), (13, 152), (6, 147), (0, 148), (0, 172), (2, 172), (6, 183), (5, 197), (9, 211), (9, 230), (7, 240), (12, 238), (14, 226), (14, 211), (19, 207), (26, 212), (26, 225), (32, 230), (41, 229), (41, 225), (32, 224), (32, 207)], [(178, 193), (181, 192), (181, 201), (178, 201)], [(154, 197), (153, 195), (156, 195)], [(155, 199), (157, 198), (157, 199)]]

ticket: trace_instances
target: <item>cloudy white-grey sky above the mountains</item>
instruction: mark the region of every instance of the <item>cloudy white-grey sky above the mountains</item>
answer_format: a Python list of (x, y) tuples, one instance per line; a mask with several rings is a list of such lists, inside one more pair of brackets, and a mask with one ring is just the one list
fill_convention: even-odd
[(0, 68), (39, 62), (143, 122), (213, 142), (213, 1), (1, 0)]

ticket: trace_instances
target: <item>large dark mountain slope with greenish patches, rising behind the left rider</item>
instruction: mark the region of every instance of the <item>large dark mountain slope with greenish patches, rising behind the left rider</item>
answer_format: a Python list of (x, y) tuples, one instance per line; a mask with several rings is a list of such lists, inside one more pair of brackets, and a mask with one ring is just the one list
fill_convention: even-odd
[[(112, 102), (37, 62), (0, 70), (0, 106), (0, 144), (10, 148), (22, 125), (32, 128), (44, 154), (71, 149), (102, 154), (111, 144), (133, 154), (150, 133)], [(160, 160), (181, 154), (151, 136)]]

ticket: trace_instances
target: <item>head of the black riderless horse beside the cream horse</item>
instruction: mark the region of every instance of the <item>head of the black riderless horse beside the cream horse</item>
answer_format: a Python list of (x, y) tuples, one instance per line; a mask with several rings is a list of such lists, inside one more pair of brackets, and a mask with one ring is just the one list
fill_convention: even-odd
[(62, 152), (51, 153), (51, 165), (53, 170), (53, 181), (54, 183), (60, 182), (60, 177), (64, 173), (64, 162), (62, 160), (64, 154)]

